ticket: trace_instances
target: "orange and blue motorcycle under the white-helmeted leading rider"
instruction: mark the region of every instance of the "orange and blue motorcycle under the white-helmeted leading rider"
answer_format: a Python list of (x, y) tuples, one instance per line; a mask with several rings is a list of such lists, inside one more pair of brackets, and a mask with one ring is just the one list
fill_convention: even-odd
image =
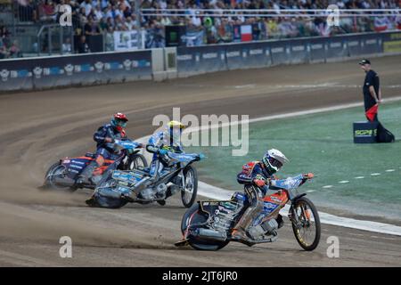
[(250, 225), (250, 240), (232, 239), (233, 226), (240, 220), (249, 203), (246, 195), (236, 191), (230, 200), (199, 201), (185, 212), (181, 223), (183, 240), (175, 245), (180, 247), (189, 244), (195, 249), (218, 250), (230, 241), (240, 241), (248, 246), (274, 242), (278, 238), (277, 230), (283, 224), (282, 221), (281, 225), (277, 223), (280, 209), (289, 203), (291, 207), (288, 217), (296, 240), (301, 248), (314, 250), (321, 234), (319, 215), (312, 201), (305, 197), (307, 194), (299, 194), (298, 191), (300, 185), (313, 177), (313, 174), (307, 174), (271, 180), (278, 191), (264, 198), (262, 212)]

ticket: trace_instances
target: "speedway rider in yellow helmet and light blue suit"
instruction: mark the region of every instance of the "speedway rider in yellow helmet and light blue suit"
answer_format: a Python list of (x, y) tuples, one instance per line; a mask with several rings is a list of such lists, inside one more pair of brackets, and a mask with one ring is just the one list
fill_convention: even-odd
[(170, 121), (164, 131), (153, 134), (146, 145), (146, 151), (153, 153), (150, 175), (152, 181), (157, 181), (166, 167), (168, 151), (184, 152), (181, 144), (181, 134), (184, 125), (179, 121)]

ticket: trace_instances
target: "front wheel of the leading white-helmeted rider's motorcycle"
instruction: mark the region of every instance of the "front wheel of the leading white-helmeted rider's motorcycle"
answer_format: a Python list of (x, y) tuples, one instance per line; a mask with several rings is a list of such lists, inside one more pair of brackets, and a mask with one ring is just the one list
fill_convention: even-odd
[[(314, 203), (306, 197), (301, 197), (292, 205), (291, 224), (295, 239), (301, 248), (314, 250), (320, 241), (320, 218)], [(296, 221), (294, 215), (298, 217)]]

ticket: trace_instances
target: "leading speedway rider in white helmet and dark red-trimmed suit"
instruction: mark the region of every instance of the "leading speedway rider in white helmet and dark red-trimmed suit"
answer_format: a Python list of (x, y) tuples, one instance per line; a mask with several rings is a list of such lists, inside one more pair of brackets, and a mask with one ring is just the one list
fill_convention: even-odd
[[(274, 173), (280, 170), (285, 162), (289, 161), (281, 151), (268, 150), (262, 161), (252, 161), (242, 167), (241, 173), (237, 175), (238, 183), (245, 184), (244, 191), (250, 201), (250, 206), (241, 216), (240, 221), (234, 226), (232, 232), (233, 240), (252, 240), (248, 232), (254, 219), (261, 213), (264, 205), (263, 199), (267, 190), (274, 190)], [(267, 183), (267, 184), (266, 184)], [(282, 216), (276, 218), (279, 228), (282, 227)]]

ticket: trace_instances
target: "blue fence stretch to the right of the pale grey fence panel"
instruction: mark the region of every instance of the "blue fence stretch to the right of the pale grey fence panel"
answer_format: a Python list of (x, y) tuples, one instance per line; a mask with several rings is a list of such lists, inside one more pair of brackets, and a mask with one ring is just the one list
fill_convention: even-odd
[[(391, 36), (392, 35), (392, 36)], [(282, 64), (340, 61), (383, 53), (401, 53), (401, 32), (306, 37), (258, 43), (177, 48), (177, 76), (254, 69)]]

